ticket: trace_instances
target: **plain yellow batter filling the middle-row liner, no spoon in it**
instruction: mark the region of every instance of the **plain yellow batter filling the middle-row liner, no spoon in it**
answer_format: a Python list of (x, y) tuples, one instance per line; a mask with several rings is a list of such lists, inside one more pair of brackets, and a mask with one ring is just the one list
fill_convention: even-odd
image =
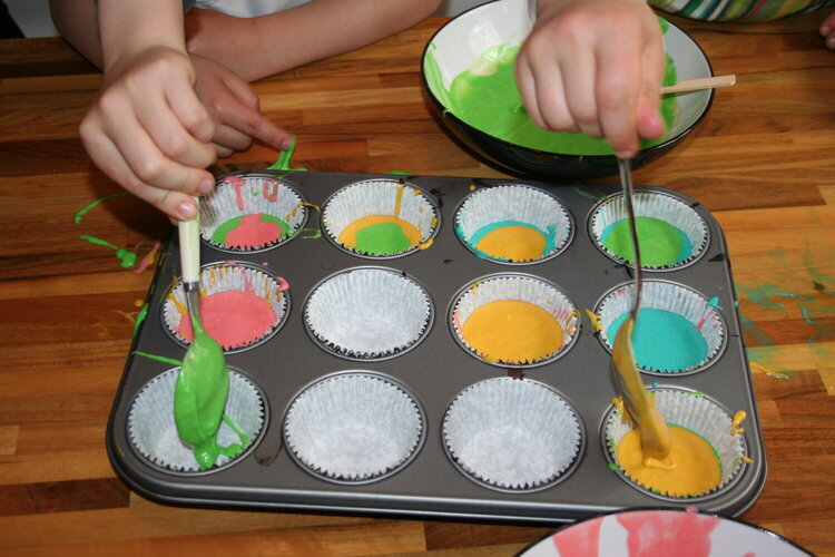
[(477, 307), (461, 326), (466, 343), (485, 360), (528, 363), (562, 346), (557, 319), (537, 304), (498, 300)]

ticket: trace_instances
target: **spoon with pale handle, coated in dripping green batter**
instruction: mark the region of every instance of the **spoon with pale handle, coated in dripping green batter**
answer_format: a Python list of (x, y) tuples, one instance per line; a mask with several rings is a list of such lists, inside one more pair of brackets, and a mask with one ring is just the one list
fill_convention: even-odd
[(191, 446), (195, 459), (206, 469), (215, 465), (218, 456), (237, 453), (240, 446), (217, 444), (217, 430), (229, 393), (229, 370), (220, 345), (206, 333), (200, 321), (199, 215), (179, 223), (178, 228), (183, 287), (194, 338), (177, 375), (174, 419), (180, 439)]

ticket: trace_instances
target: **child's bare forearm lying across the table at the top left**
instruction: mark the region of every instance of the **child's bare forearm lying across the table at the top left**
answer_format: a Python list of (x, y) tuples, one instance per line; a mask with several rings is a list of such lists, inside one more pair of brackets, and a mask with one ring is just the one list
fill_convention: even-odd
[[(440, 0), (312, 0), (258, 18), (186, 14), (188, 50), (247, 81), (347, 52), (422, 20)], [(222, 37), (223, 40), (218, 40)]]

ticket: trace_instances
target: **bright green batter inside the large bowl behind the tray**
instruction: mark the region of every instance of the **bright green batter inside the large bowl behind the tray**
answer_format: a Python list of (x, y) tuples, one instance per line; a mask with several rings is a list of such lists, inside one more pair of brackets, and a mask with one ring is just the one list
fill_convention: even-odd
[[(664, 29), (666, 21), (661, 20)], [(519, 46), (500, 45), (482, 53), (478, 68), (459, 74), (446, 90), (433, 48), (426, 50), (425, 74), (432, 92), (441, 104), (470, 126), (499, 139), (548, 153), (567, 155), (612, 155), (607, 139), (582, 133), (547, 131), (528, 116), (513, 76)], [(666, 57), (661, 85), (677, 81), (676, 66)], [(678, 104), (675, 96), (661, 99), (661, 117), (669, 128)], [(645, 139), (641, 148), (658, 145), (661, 139)]]

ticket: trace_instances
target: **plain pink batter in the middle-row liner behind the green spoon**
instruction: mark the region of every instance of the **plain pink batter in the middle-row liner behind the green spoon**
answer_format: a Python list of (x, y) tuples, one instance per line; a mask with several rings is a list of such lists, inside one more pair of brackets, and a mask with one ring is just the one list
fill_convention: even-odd
[[(200, 299), (203, 326), (224, 350), (243, 346), (264, 335), (275, 325), (276, 316), (266, 300), (250, 289), (217, 292)], [(191, 316), (186, 313), (177, 333), (191, 341)]]

